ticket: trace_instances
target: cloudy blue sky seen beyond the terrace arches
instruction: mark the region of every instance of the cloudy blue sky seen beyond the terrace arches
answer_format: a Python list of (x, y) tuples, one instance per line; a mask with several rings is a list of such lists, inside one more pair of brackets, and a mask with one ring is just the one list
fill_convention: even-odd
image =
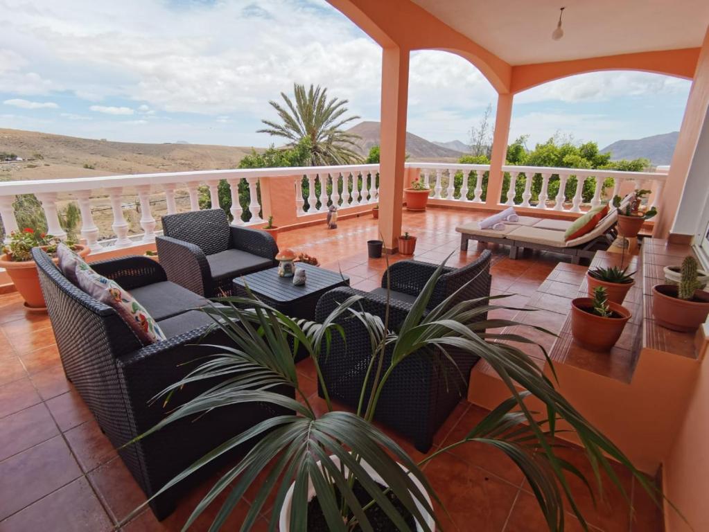
[[(379, 120), (381, 50), (321, 0), (0, 0), (0, 128), (133, 142), (265, 146), (269, 99), (327, 86)], [(554, 81), (515, 96), (510, 137), (604, 146), (678, 130), (689, 82), (641, 72)], [(496, 102), (471, 64), (411, 58), (408, 130), (467, 141)]]

